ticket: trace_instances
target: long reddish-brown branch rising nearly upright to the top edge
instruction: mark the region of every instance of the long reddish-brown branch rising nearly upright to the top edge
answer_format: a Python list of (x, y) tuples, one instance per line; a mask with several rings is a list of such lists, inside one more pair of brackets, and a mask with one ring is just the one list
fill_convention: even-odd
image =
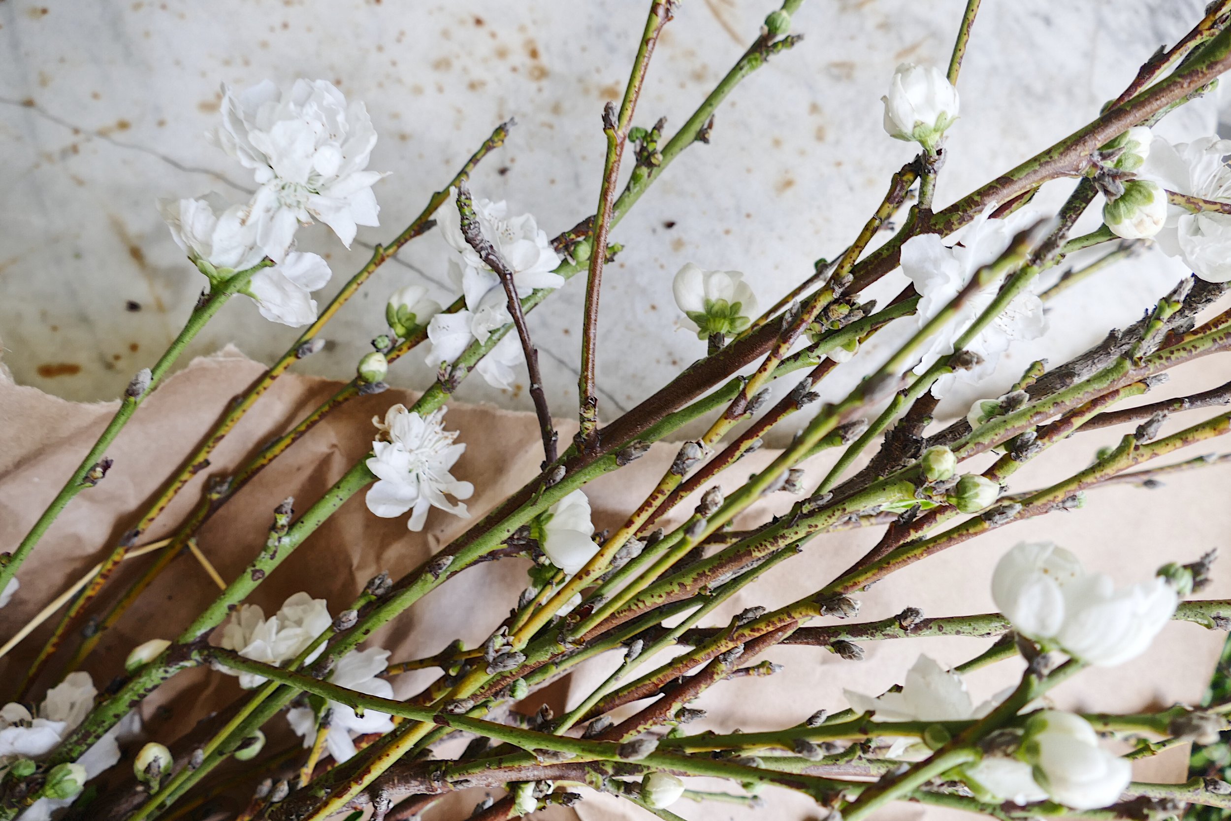
[[(619, 116), (616, 107), (607, 103), (603, 110), (603, 133), (607, 137), (607, 158), (603, 166), (603, 183), (598, 193), (598, 212), (595, 214), (593, 235), (590, 244), (590, 272), (586, 277), (586, 305), (581, 324), (581, 375), (577, 380), (579, 416), (581, 427), (577, 443), (582, 449), (593, 449), (598, 441), (598, 396), (595, 395), (595, 359), (597, 356), (598, 293), (602, 287), (603, 265), (607, 261), (607, 233), (611, 230), (612, 210), (616, 204), (616, 186), (619, 178), (620, 159), (628, 143), (628, 129), (633, 111), (641, 95), (645, 70), (654, 55), (662, 27), (671, 21), (672, 0), (655, 0), (645, 21), (645, 33), (633, 62), (633, 71), (624, 89), (624, 101)], [(554, 462), (554, 459), (548, 459)]]

